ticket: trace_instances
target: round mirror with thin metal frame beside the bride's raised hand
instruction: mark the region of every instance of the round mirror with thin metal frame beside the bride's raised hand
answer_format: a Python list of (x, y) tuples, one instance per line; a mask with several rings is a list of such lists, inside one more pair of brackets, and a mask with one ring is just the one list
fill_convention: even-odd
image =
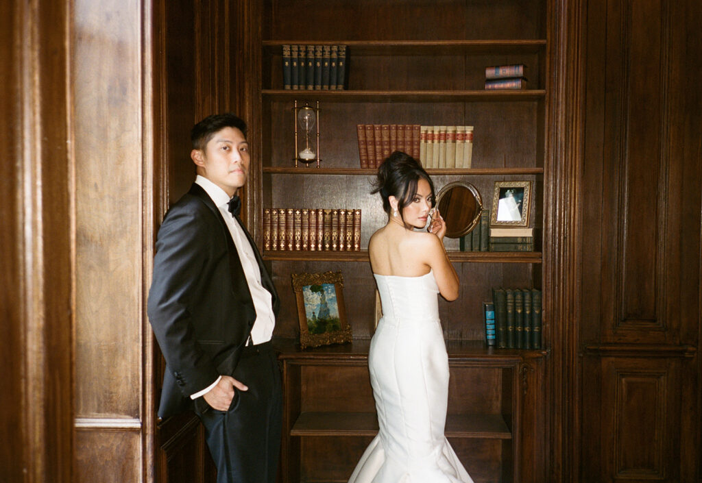
[(470, 183), (454, 181), (442, 187), (436, 206), (446, 222), (446, 237), (463, 237), (480, 222), (482, 199)]

